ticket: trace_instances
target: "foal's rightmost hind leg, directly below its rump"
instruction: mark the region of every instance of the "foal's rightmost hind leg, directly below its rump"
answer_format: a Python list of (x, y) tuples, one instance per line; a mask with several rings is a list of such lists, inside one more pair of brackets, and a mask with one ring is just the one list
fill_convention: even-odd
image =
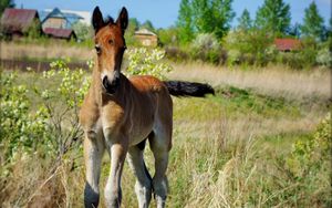
[(153, 188), (158, 208), (165, 207), (167, 198), (168, 181), (166, 169), (168, 165), (170, 133), (155, 132), (149, 137), (151, 149), (155, 157), (155, 176), (153, 177)]

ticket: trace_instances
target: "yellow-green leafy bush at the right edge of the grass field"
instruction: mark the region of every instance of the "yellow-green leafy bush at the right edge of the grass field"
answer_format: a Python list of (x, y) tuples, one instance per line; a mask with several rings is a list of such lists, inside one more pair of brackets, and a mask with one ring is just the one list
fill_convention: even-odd
[[(308, 139), (299, 139), (293, 144), (290, 156), (286, 164), (290, 175), (302, 185), (307, 195), (314, 193), (315, 202), (332, 205), (331, 185), (329, 175), (331, 173), (331, 144), (332, 122), (329, 113), (318, 125), (317, 131)], [(328, 206), (329, 207), (329, 206)]]

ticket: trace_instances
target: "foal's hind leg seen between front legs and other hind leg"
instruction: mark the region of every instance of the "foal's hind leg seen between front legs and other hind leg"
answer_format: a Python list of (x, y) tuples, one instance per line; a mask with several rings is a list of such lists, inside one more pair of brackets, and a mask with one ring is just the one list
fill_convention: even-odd
[(135, 191), (139, 208), (147, 208), (152, 197), (152, 178), (144, 163), (144, 146), (145, 141), (128, 150), (128, 163), (137, 177)]

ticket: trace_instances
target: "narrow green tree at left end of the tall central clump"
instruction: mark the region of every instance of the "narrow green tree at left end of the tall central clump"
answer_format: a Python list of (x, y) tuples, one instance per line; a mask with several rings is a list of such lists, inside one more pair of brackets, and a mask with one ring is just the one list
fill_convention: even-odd
[(190, 0), (181, 0), (176, 25), (178, 38), (181, 43), (188, 43), (194, 38), (193, 9)]

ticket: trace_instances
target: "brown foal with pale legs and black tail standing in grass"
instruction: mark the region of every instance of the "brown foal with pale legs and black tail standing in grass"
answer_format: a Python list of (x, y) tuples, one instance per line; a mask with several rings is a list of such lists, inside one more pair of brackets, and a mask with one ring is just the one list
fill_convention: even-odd
[[(98, 206), (98, 181), (105, 149), (111, 157), (110, 177), (104, 191), (106, 207), (121, 206), (121, 175), (126, 155), (137, 177), (135, 193), (138, 206), (148, 207), (154, 193), (157, 207), (165, 207), (166, 169), (173, 128), (170, 94), (205, 96), (214, 94), (214, 90), (207, 84), (162, 82), (153, 76), (127, 79), (121, 73), (126, 49), (124, 33), (128, 24), (127, 10), (123, 8), (114, 22), (112, 18), (104, 21), (96, 7), (92, 23), (97, 58), (92, 85), (80, 112), (80, 123), (85, 135), (85, 207)], [(143, 157), (146, 139), (155, 158), (153, 178)]]

